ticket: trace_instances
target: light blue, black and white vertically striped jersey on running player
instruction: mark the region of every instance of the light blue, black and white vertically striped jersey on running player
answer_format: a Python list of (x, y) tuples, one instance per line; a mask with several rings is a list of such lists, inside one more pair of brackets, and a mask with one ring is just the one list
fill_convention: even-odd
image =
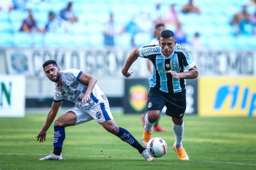
[(167, 71), (177, 73), (195, 66), (189, 51), (183, 45), (176, 44), (169, 57), (163, 55), (159, 45), (148, 45), (139, 49), (140, 57), (148, 58), (154, 64), (153, 74), (149, 79), (150, 87), (159, 88), (166, 93), (177, 93), (186, 88), (186, 79), (175, 79)]

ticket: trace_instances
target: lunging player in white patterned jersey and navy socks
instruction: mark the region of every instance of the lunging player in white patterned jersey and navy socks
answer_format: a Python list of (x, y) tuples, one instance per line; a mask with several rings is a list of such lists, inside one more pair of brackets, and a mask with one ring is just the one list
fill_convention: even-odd
[(108, 99), (98, 85), (96, 85), (97, 79), (95, 77), (74, 68), (60, 71), (57, 63), (52, 59), (44, 62), (43, 68), (46, 76), (52, 82), (55, 82), (56, 86), (52, 108), (48, 113), (44, 126), (38, 136), (36, 136), (37, 140), (39, 142), (45, 141), (46, 132), (64, 99), (72, 101), (76, 105), (55, 120), (54, 150), (49, 156), (40, 160), (62, 160), (61, 151), (65, 139), (65, 127), (79, 125), (93, 119), (100, 123), (108, 132), (136, 148), (147, 161), (154, 159), (131, 133), (116, 125), (109, 108)]

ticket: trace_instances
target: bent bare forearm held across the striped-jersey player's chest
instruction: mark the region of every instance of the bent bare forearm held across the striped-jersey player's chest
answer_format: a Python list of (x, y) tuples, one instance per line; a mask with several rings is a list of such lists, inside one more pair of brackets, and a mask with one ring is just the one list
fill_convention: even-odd
[(189, 69), (187, 72), (177, 73), (175, 71), (169, 70), (168, 73), (172, 74), (175, 79), (195, 79), (198, 77), (198, 70), (196, 66)]

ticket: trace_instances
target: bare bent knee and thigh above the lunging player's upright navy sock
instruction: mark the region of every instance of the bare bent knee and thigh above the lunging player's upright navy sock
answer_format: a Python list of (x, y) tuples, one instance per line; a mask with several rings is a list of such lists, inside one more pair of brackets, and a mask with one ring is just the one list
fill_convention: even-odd
[(55, 126), (74, 126), (76, 124), (76, 114), (73, 111), (67, 111), (63, 115), (59, 116), (55, 122)]

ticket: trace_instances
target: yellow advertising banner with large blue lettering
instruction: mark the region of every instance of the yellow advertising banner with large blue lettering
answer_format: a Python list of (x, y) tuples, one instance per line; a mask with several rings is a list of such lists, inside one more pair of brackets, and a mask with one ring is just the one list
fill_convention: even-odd
[(256, 116), (255, 77), (201, 77), (200, 116)]

